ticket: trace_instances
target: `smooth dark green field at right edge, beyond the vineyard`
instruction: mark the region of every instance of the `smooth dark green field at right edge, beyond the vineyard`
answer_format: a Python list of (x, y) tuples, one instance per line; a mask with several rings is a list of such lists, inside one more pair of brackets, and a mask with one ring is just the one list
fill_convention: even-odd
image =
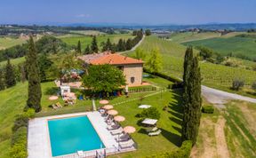
[(212, 38), (184, 43), (185, 45), (204, 45), (223, 55), (232, 52), (234, 55), (244, 55), (256, 59), (256, 38), (232, 36), (228, 38)]

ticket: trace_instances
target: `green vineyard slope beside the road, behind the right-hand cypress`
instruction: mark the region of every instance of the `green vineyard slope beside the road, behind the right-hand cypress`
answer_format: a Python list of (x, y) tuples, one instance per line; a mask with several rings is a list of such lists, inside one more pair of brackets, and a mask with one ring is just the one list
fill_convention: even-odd
[[(140, 48), (146, 52), (146, 60), (148, 53), (153, 48), (159, 48), (164, 61), (163, 70), (166, 75), (182, 77), (183, 75), (183, 57), (186, 51), (186, 46), (172, 41), (159, 39), (156, 36), (147, 36), (141, 43)], [(196, 51), (197, 52), (197, 51)], [(128, 53), (133, 56), (134, 53)], [(252, 62), (247, 64), (253, 64)], [(212, 88), (217, 88), (223, 91), (231, 91), (230, 86), (233, 79), (240, 77), (244, 80), (244, 91), (231, 91), (242, 95), (255, 97), (248, 91), (251, 91), (251, 84), (256, 80), (256, 71), (247, 70), (241, 67), (226, 67), (208, 62), (200, 62), (203, 84)]]

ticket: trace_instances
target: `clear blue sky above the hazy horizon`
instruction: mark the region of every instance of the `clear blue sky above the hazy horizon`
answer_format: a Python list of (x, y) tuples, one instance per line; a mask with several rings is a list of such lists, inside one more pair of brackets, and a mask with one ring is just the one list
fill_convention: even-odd
[(256, 22), (256, 0), (3, 0), (0, 23)]

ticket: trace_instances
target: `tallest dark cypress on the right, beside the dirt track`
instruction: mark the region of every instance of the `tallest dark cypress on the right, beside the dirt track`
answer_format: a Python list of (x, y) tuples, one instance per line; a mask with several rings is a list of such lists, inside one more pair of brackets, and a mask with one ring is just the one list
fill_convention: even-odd
[(198, 57), (193, 57), (193, 48), (188, 47), (184, 59), (184, 115), (182, 122), (182, 139), (196, 144), (201, 118), (201, 73)]

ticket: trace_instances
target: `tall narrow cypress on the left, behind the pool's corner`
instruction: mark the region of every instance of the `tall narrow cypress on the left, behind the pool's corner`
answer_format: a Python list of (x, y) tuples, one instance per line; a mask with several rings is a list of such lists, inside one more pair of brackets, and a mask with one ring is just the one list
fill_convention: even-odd
[(34, 108), (36, 113), (41, 111), (42, 91), (40, 85), (39, 68), (37, 63), (37, 53), (32, 36), (28, 40), (28, 53), (26, 56), (28, 69), (28, 100), (27, 107)]

